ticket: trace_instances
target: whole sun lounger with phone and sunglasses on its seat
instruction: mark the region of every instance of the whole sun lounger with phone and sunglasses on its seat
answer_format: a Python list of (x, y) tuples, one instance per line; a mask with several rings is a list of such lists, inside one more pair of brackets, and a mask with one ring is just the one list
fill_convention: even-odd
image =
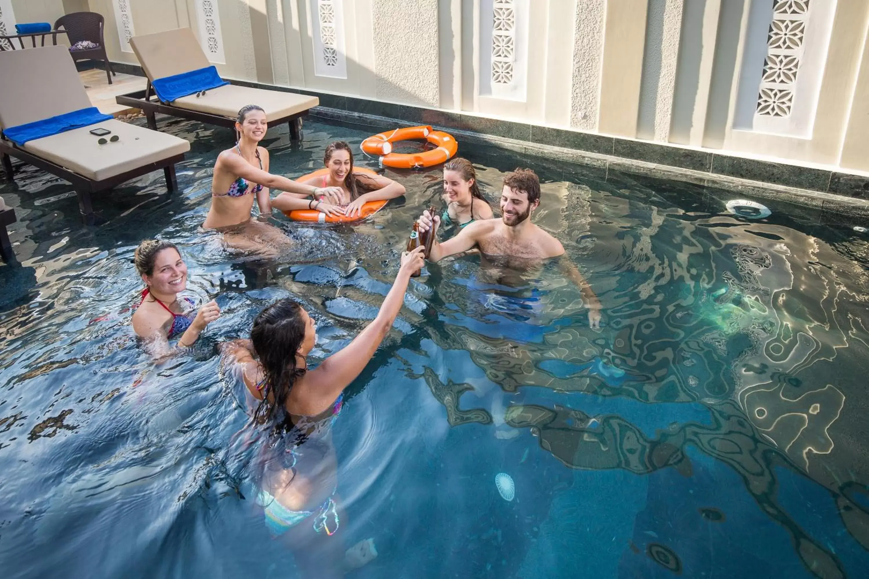
[[(174, 135), (137, 127), (99, 115), (78, 77), (64, 46), (0, 52), (0, 160), (10, 181), (10, 157), (16, 157), (70, 181), (78, 194), (85, 222), (94, 220), (90, 194), (105, 191), (134, 177), (163, 169), (166, 187), (176, 189), (176, 162), (183, 161), (190, 143)], [(93, 115), (89, 115), (90, 110)], [(59, 117), (80, 115), (63, 132), (41, 136), (39, 128)], [(105, 119), (105, 120), (98, 120)], [(98, 122), (90, 122), (98, 120)], [(90, 122), (85, 126), (83, 123)], [(57, 124), (57, 122), (54, 122)], [(31, 130), (36, 128), (36, 131)], [(29, 136), (22, 137), (22, 128)], [(111, 131), (98, 144), (95, 128)], [(7, 134), (8, 132), (8, 134)], [(50, 132), (50, 131), (43, 131)], [(37, 138), (33, 138), (37, 137)], [(23, 138), (30, 140), (23, 141)], [(19, 142), (14, 142), (19, 141)]]

